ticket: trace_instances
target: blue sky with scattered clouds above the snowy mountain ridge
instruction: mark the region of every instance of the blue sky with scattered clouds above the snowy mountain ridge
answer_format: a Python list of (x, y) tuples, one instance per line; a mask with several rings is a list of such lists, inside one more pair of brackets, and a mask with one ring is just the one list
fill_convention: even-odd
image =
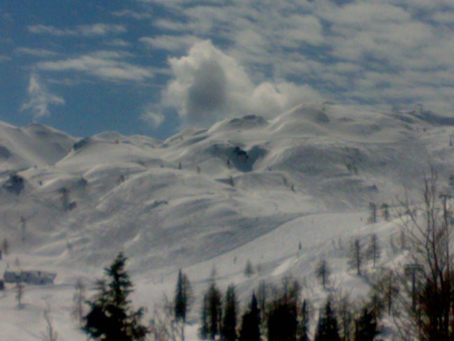
[(0, 120), (164, 139), (300, 103), (454, 116), (453, 0), (0, 3)]

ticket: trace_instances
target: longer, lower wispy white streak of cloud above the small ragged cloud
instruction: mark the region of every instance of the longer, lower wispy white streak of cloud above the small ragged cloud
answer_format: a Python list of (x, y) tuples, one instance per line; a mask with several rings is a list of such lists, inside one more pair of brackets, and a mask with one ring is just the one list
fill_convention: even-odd
[(152, 68), (137, 66), (125, 61), (127, 52), (98, 51), (75, 58), (41, 61), (41, 71), (79, 71), (104, 80), (142, 82), (154, 76)]

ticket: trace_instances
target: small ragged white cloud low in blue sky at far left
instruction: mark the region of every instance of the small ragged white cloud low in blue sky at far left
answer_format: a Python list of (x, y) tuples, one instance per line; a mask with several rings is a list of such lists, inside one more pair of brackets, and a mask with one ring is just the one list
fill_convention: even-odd
[(27, 101), (22, 104), (21, 110), (29, 110), (34, 118), (47, 117), (50, 116), (49, 106), (64, 103), (64, 99), (49, 92), (36, 73), (30, 75)]

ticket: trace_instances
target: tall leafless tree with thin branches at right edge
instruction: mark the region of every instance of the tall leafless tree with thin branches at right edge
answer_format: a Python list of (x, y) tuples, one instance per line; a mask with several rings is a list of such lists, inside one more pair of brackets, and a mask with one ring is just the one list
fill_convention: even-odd
[[(450, 196), (439, 190), (433, 167), (423, 177), (421, 203), (406, 194), (401, 205), (402, 226), (409, 241), (410, 262), (400, 276), (399, 305), (395, 321), (404, 333), (420, 340), (454, 338), (454, 275), (451, 270)], [(402, 311), (404, 314), (402, 314)]]

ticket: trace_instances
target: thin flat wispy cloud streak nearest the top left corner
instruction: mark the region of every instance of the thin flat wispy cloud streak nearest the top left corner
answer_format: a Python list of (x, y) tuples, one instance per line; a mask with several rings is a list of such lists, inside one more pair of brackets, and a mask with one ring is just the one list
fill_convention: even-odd
[(78, 25), (71, 29), (59, 29), (54, 26), (43, 24), (29, 25), (27, 29), (32, 34), (48, 34), (50, 36), (107, 36), (108, 34), (121, 34), (127, 31), (126, 27), (120, 24), (87, 24)]

